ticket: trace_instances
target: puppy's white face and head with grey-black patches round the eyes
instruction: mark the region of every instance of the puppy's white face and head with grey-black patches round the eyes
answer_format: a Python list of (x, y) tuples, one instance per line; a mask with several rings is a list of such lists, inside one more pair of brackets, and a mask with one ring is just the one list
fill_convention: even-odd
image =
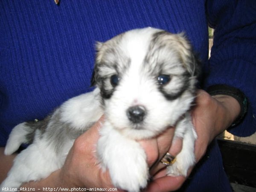
[(106, 119), (122, 134), (153, 137), (189, 110), (197, 66), (182, 35), (134, 29), (97, 50), (94, 81)]

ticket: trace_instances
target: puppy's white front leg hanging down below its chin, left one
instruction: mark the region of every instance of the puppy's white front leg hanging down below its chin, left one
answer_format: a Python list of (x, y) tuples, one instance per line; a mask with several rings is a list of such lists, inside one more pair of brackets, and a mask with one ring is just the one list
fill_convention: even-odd
[(97, 156), (103, 170), (108, 169), (114, 186), (139, 192), (148, 181), (148, 165), (143, 148), (135, 140), (124, 137), (105, 122), (100, 130)]

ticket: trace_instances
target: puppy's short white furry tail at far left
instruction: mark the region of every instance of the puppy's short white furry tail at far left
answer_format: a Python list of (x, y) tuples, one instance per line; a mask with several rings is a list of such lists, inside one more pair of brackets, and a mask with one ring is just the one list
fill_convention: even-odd
[(20, 147), (22, 143), (30, 143), (29, 135), (35, 134), (35, 129), (29, 126), (28, 122), (23, 122), (12, 129), (9, 139), (7, 140), (4, 154), (13, 154)]

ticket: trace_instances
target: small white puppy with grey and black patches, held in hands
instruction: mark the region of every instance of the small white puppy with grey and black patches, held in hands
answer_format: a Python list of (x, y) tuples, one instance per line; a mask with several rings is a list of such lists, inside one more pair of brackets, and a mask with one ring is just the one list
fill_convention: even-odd
[[(105, 114), (96, 155), (114, 186), (138, 192), (147, 185), (146, 154), (137, 140), (175, 126), (183, 148), (168, 175), (186, 175), (195, 162), (196, 134), (188, 112), (195, 98), (198, 62), (182, 34), (134, 29), (97, 44), (96, 89), (76, 96), (39, 122), (24, 122), (10, 134), (5, 154), (17, 155), (3, 187), (40, 180), (63, 166), (74, 140)], [(175, 139), (174, 138), (174, 139)]]

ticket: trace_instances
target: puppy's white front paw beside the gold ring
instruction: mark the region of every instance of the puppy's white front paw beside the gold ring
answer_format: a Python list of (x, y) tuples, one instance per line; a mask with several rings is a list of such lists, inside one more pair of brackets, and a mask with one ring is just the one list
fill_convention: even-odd
[(195, 163), (194, 152), (191, 151), (181, 151), (177, 155), (175, 163), (167, 167), (167, 175), (169, 176), (187, 176), (187, 172), (190, 167)]

